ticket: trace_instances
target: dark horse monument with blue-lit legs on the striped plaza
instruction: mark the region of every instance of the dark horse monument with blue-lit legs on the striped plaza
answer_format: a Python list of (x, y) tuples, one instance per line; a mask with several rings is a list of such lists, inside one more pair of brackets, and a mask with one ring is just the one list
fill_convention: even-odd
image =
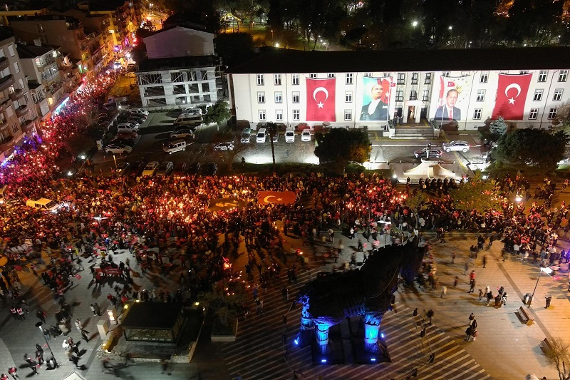
[[(363, 352), (389, 358), (386, 347), (378, 342), (380, 322), (384, 313), (392, 309), (398, 278), (413, 282), (423, 255), (424, 248), (418, 247), (416, 237), (404, 245), (390, 245), (372, 253), (361, 269), (326, 274), (306, 284), (297, 297), (303, 309), (295, 343), (304, 346), (316, 342), (314, 353), (326, 356), (333, 350), (329, 329), (344, 319), (360, 316)], [(326, 359), (320, 361), (325, 363)]]

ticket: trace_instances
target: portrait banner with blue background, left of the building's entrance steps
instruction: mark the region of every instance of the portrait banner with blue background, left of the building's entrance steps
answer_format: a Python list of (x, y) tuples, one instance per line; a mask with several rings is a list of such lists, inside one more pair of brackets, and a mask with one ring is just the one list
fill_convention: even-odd
[(391, 78), (363, 78), (362, 109), (360, 120), (388, 120)]

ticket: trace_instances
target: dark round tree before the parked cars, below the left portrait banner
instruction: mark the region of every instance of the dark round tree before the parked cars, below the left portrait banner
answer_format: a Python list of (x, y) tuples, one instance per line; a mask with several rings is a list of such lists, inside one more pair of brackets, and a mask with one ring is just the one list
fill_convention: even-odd
[(370, 155), (370, 140), (363, 130), (333, 128), (328, 133), (316, 133), (315, 140), (315, 155), (321, 163), (332, 162), (339, 173), (349, 162), (363, 163)]

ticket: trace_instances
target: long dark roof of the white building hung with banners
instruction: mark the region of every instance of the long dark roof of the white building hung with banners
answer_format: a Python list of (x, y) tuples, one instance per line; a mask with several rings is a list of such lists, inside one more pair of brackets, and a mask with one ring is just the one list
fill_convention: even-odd
[(299, 51), (269, 48), (226, 73), (351, 73), (570, 68), (570, 47), (392, 51)]

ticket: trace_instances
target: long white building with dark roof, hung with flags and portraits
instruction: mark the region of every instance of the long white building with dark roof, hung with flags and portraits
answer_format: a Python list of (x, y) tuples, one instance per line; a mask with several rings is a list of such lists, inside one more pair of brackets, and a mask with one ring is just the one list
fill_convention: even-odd
[[(518, 128), (549, 128), (569, 99), (569, 56), (566, 47), (276, 49), (226, 73), (232, 112), (253, 128), (274, 121), (388, 130), (399, 117), (405, 125), (476, 130), (498, 116)], [(456, 98), (452, 113), (448, 96)]]

